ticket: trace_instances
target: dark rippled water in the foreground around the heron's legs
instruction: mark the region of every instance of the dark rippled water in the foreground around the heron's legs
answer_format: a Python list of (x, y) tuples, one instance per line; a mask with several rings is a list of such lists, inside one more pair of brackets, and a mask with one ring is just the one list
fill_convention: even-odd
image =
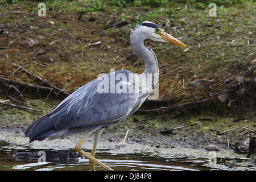
[[(45, 162), (38, 163), (29, 160), (16, 160), (14, 154), (16, 152), (38, 152), (40, 150), (32, 150), (24, 146), (12, 146), (7, 142), (0, 142), (0, 171), (2, 170), (44, 170), (44, 171), (64, 171), (64, 170), (90, 170), (88, 159), (79, 159), (78, 162)], [(89, 152), (89, 151), (88, 151)], [(168, 156), (163, 158), (151, 153), (133, 153), (133, 154), (111, 154), (107, 151), (97, 151), (96, 158), (105, 163), (115, 171), (195, 171), (195, 170), (256, 170), (253, 162), (244, 163), (230, 161), (224, 163), (212, 164), (208, 158), (197, 158), (191, 156)], [(96, 170), (104, 170), (96, 164)]]

